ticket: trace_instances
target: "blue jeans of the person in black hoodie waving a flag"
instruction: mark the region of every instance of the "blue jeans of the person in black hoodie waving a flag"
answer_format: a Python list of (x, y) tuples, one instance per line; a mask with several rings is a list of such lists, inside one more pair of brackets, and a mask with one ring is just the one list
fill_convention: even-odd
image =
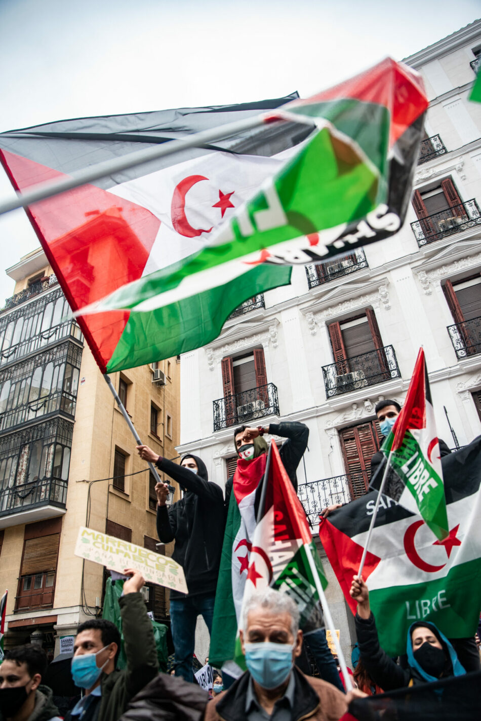
[[(171, 632), (174, 641), (175, 675), (194, 682), (192, 656), (194, 655), (197, 616), (202, 616), (212, 633), (215, 596), (186, 596), (171, 598)], [(203, 664), (202, 664), (203, 665)]]

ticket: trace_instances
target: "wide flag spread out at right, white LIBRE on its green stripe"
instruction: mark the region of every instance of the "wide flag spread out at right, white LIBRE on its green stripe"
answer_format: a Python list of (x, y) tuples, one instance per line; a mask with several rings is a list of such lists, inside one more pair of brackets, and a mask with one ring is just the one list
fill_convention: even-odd
[[(405, 653), (415, 621), (431, 621), (448, 638), (472, 637), (481, 607), (481, 436), (441, 459), (449, 536), (439, 541), (421, 516), (382, 495), (363, 578), (379, 641)], [(319, 535), (353, 613), (351, 581), (367, 539), (377, 492), (333, 511)]]

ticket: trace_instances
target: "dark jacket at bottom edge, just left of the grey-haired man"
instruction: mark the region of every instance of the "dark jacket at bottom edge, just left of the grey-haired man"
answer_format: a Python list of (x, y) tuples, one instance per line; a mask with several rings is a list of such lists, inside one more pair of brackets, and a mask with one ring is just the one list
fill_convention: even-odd
[(201, 721), (208, 700), (197, 684), (159, 673), (132, 699), (122, 721)]

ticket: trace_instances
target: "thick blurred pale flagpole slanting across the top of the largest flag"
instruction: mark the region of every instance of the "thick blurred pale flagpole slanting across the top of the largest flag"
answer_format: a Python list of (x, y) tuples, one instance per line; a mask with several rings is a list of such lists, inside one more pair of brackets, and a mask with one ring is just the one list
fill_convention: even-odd
[[(65, 193), (66, 190), (73, 190), (73, 188), (93, 182), (94, 180), (99, 180), (99, 178), (106, 177), (107, 175), (120, 172), (121, 170), (127, 170), (127, 168), (132, 168), (135, 165), (141, 165), (151, 160), (156, 160), (157, 158), (173, 155), (187, 148), (202, 147), (206, 143), (212, 143), (212, 141), (228, 138), (236, 133), (258, 128), (260, 125), (264, 125), (264, 123), (285, 122), (282, 118), (273, 118), (272, 115), (274, 112), (273, 110), (271, 115), (264, 112), (262, 115), (254, 115), (253, 118), (236, 120), (235, 123), (226, 123), (225, 125), (220, 125), (218, 128), (210, 128), (207, 131), (193, 133), (190, 136), (186, 136), (186, 138), (167, 141), (155, 148), (138, 150), (120, 158), (104, 160), (101, 163), (96, 163), (90, 167), (78, 170), (62, 180), (41, 183), (31, 190), (27, 190), (26, 193), (18, 194), (17, 198), (0, 202), (0, 215), (14, 211), (17, 208), (26, 208), (27, 205), (38, 203), (39, 200), (52, 198), (53, 195)], [(306, 120), (299, 118), (299, 123), (306, 124)]]

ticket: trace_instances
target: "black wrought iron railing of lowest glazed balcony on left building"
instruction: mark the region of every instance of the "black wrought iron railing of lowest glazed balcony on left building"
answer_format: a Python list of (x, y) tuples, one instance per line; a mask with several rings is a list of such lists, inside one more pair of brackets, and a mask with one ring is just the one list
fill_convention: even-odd
[(23, 483), (0, 491), (0, 518), (42, 505), (65, 508), (67, 482), (58, 478), (45, 478)]

